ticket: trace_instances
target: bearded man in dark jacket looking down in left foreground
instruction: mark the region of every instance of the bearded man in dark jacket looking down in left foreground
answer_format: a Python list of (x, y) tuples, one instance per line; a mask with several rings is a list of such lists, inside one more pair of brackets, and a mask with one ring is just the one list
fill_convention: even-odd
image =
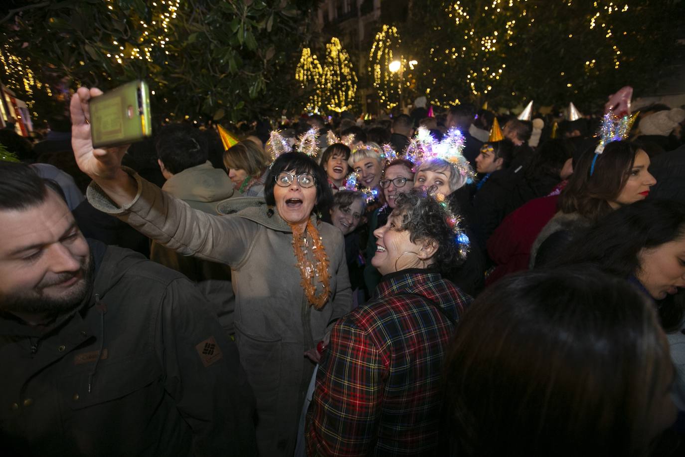
[(11, 456), (256, 455), (234, 343), (183, 275), (87, 242), (0, 162), (0, 443)]

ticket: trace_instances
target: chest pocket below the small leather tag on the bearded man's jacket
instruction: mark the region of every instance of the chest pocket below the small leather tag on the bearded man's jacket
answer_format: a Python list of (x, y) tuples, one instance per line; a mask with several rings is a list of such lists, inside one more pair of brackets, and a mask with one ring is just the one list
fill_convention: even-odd
[(78, 374), (60, 379), (59, 391), (71, 410), (124, 400), (136, 392), (148, 391), (162, 378), (162, 369), (151, 356), (100, 360), (97, 369), (95, 362), (88, 365)]

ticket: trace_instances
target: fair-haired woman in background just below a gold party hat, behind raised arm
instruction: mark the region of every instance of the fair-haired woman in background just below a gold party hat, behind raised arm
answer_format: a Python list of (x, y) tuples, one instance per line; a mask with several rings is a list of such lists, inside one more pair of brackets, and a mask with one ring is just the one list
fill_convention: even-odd
[(244, 197), (263, 197), (271, 158), (252, 141), (241, 141), (223, 153), (223, 162), (234, 188)]

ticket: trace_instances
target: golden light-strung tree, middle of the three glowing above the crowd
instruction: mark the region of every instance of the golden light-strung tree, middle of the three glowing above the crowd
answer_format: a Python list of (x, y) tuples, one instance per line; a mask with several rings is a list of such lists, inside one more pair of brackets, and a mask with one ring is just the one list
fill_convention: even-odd
[(338, 38), (331, 38), (326, 45), (323, 64), (321, 99), (326, 108), (343, 112), (352, 108), (357, 92), (357, 75), (354, 73), (349, 54)]

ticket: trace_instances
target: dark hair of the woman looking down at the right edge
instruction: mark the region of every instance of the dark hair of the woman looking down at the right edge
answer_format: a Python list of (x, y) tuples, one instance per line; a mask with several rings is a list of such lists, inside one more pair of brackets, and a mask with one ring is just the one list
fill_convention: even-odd
[[(554, 265), (593, 264), (627, 279), (640, 271), (639, 254), (685, 236), (685, 205), (647, 199), (610, 212), (577, 234)], [(659, 317), (667, 332), (680, 330), (685, 317), (683, 293), (659, 301)]]

